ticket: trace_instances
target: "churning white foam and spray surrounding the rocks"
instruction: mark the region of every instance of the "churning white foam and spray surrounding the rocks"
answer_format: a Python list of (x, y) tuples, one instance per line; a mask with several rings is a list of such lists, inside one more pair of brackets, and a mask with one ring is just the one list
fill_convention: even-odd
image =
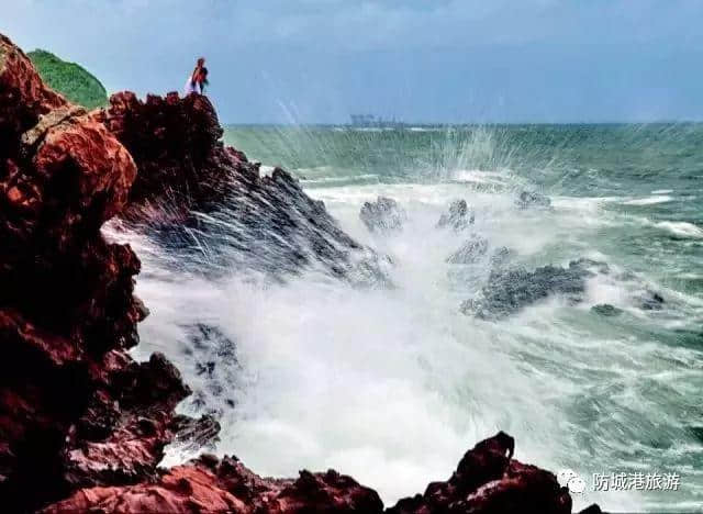
[[(466, 198), (477, 212), (472, 232), (487, 237), (491, 250), (511, 247), (526, 267), (581, 256), (607, 261), (588, 241), (615, 223), (601, 209), (612, 199), (559, 197), (554, 211), (518, 210), (512, 192), (477, 193), (459, 181), (309, 193), (325, 201), (346, 232), (392, 256), (397, 288), (350, 289), (313, 272), (270, 284), (233, 270), (212, 282), (177, 275), (158, 248), (134, 241), (144, 260), (137, 294), (152, 309), (137, 353), (166, 351), (199, 389), (208, 379), (196, 371), (198, 355), (170, 342), (205, 323), (236, 344), (236, 364), (215, 364), (217, 370), (236, 365), (236, 380), (217, 379), (225, 392), (209, 399), (225, 412), (220, 454), (237, 455), (263, 474), (333, 467), (378, 489), (387, 504), (448, 478), (467, 448), (499, 429), (516, 437), (521, 460), (555, 471), (568, 467), (587, 479), (662, 463), (640, 437), (658, 428), (643, 425), (669, 420), (666, 431), (679, 432), (669, 405), (652, 400), (650, 390), (688, 387), (687, 370), (700, 354), (662, 353), (652, 338), (638, 339), (588, 311), (611, 303), (647, 323), (633, 301), (634, 286), (615, 268), (589, 280), (578, 310), (550, 298), (500, 322), (466, 316), (458, 305), (483, 286), (488, 259), (476, 266), (475, 281), (453, 279), (445, 259), (464, 235), (435, 226), (450, 200)], [(361, 203), (379, 194), (409, 213), (398, 235), (369, 234), (359, 221)], [(645, 387), (648, 369), (670, 373), (646, 376)], [(638, 510), (644, 502), (635, 492), (588, 489), (576, 501), (577, 507), (598, 501), (613, 510)]]

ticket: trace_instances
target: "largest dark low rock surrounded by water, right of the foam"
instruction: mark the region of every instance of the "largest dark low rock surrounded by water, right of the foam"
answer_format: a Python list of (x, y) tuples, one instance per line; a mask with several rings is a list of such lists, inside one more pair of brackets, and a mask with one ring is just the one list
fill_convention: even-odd
[(534, 271), (493, 269), (479, 298), (464, 302), (461, 310), (481, 319), (500, 319), (551, 294), (578, 302), (585, 291), (585, 279), (592, 276), (582, 261), (571, 261), (568, 268), (545, 266)]

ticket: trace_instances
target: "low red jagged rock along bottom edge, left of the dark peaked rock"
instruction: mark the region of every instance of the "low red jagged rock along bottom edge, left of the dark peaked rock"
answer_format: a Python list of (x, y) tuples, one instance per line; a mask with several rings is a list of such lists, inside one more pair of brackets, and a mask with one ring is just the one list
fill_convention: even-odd
[(51, 505), (45, 513), (86, 512), (236, 512), (381, 513), (383, 504), (371, 489), (350, 477), (301, 471), (298, 479), (264, 479), (236, 458), (202, 456), (178, 466), (152, 483), (93, 488)]

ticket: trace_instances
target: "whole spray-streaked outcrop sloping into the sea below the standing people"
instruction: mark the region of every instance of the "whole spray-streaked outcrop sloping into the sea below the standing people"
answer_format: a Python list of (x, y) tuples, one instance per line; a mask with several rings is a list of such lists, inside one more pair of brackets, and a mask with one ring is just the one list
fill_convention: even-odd
[(344, 233), (280, 168), (259, 167), (221, 142), (207, 97), (113, 94), (96, 113), (140, 172), (123, 217), (198, 272), (237, 268), (278, 279), (322, 268), (355, 283), (388, 286), (387, 261)]

